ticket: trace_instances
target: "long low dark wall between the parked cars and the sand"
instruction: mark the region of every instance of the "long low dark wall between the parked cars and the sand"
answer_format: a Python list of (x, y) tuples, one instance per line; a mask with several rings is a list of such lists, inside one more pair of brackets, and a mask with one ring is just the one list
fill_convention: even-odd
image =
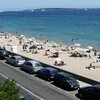
[[(14, 52), (10, 52), (10, 51), (7, 51), (7, 52), (8, 52), (10, 55), (20, 55), (20, 54), (17, 54), (17, 53), (14, 53)], [(23, 56), (23, 55), (20, 55), (20, 56), (22, 56), (22, 57), (25, 58), (26, 60), (32, 60), (31, 58), (25, 57), (25, 56)], [(35, 60), (35, 59), (33, 59), (33, 60)], [(38, 61), (38, 62), (40, 62), (40, 61)], [(43, 63), (43, 62), (40, 62), (40, 63), (43, 65), (43, 67), (53, 67), (53, 68), (55, 68), (54, 66), (48, 65), (48, 64), (46, 64), (46, 63)], [(90, 78), (87, 78), (87, 77), (84, 77), (84, 76), (81, 76), (81, 75), (78, 75), (78, 74), (75, 74), (75, 73), (72, 73), (72, 72), (69, 72), (69, 71), (65, 71), (65, 70), (62, 70), (62, 69), (60, 69), (60, 68), (56, 68), (56, 69), (58, 69), (58, 71), (67, 72), (68, 74), (73, 75), (74, 78), (76, 78), (76, 79), (78, 79), (78, 80), (80, 80), (80, 81), (86, 82), (86, 83), (88, 83), (88, 84), (91, 84), (91, 85), (100, 84), (99, 81), (95, 81), (95, 80), (93, 80), (93, 79), (90, 79)]]

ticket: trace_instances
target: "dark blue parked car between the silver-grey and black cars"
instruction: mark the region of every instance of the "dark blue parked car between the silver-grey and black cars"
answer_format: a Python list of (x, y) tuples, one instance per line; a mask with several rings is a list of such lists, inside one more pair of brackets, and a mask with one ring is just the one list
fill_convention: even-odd
[(37, 76), (47, 79), (53, 80), (54, 76), (57, 74), (58, 70), (52, 67), (45, 67), (39, 71), (37, 71)]

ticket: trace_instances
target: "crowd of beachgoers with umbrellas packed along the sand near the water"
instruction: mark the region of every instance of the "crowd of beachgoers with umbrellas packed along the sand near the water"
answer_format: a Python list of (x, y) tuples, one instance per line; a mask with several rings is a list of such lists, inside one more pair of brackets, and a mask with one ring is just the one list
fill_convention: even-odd
[[(4, 36), (4, 39), (8, 39), (8, 42), (13, 42), (13, 40), (10, 38), (13, 35), (11, 34), (6, 34), (6, 33), (1, 33), (0, 36)], [(47, 44), (51, 45), (50, 41), (45, 40), (45, 41), (37, 41), (34, 38), (26, 38), (25, 36), (15, 36), (16, 39), (19, 41), (18, 45), (22, 47), (22, 51), (26, 53), (32, 53), (32, 54), (38, 54), (40, 50), (44, 51), (44, 56), (47, 56), (48, 58), (59, 58), (61, 55), (59, 50), (53, 52), (52, 50), (55, 49), (60, 49), (61, 52), (68, 52), (69, 57), (97, 57), (97, 59), (100, 59), (100, 51), (96, 49), (88, 50), (88, 52), (80, 52), (77, 48), (81, 47), (75, 47), (74, 45), (72, 46), (64, 46), (63, 44), (59, 44), (55, 47), (51, 46), (51, 48), (47, 48)], [(15, 41), (14, 41), (15, 42)], [(9, 43), (10, 44), (10, 43)], [(4, 45), (5, 46), (5, 45)], [(82, 50), (85, 50), (82, 48)], [(91, 53), (92, 52), (92, 53)], [(64, 65), (66, 61), (60, 61), (61, 64), (57, 64), (57, 61), (54, 62), (54, 65)], [(92, 64), (90, 63), (90, 66)]]

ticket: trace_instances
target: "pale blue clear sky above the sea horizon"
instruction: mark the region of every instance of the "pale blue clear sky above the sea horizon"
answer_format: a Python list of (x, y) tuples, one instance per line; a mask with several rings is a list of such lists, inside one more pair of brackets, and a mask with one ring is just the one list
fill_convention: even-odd
[(0, 0), (0, 10), (100, 8), (100, 0)]

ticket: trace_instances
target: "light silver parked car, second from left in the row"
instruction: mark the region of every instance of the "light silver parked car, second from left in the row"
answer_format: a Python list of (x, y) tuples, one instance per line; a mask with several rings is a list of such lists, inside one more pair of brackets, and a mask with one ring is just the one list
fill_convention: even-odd
[(6, 62), (14, 66), (21, 66), (25, 62), (25, 59), (21, 56), (15, 55), (15, 56), (10, 56), (9, 58), (7, 58)]

